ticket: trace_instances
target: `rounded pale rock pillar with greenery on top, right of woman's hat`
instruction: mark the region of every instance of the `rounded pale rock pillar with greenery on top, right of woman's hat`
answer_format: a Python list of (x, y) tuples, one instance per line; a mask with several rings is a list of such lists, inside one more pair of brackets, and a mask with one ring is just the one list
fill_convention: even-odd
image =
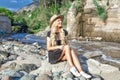
[(75, 0), (68, 11), (67, 30), (70, 38), (84, 36), (82, 22), (83, 8), (84, 0)]

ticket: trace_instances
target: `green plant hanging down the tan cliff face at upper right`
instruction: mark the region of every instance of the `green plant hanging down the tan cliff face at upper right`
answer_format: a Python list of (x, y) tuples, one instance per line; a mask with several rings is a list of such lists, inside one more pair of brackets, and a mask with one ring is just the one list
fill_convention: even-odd
[[(99, 18), (101, 20), (105, 21), (107, 18), (107, 11), (105, 10), (105, 8), (103, 6), (99, 5), (96, 0), (93, 0), (93, 3), (96, 6), (96, 12), (97, 12)], [(107, 5), (109, 5), (109, 1), (107, 2)]]

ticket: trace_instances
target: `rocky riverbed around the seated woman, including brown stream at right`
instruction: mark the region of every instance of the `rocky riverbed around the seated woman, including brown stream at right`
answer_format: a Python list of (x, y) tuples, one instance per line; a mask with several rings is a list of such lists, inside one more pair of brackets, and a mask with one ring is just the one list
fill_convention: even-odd
[[(90, 80), (120, 80), (120, 44), (70, 41)], [(0, 41), (0, 80), (87, 80), (73, 76), (66, 61), (48, 63), (45, 47), (37, 42)]]

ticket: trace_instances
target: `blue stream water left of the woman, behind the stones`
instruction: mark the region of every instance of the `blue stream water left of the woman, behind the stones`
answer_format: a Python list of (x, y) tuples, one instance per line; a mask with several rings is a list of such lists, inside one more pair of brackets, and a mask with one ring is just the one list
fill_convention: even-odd
[(15, 33), (9, 37), (6, 37), (7, 40), (12, 41), (18, 41), (24, 44), (33, 44), (38, 43), (38, 45), (46, 47), (46, 41), (45, 38), (40, 36), (35, 36), (33, 34), (27, 34), (27, 33)]

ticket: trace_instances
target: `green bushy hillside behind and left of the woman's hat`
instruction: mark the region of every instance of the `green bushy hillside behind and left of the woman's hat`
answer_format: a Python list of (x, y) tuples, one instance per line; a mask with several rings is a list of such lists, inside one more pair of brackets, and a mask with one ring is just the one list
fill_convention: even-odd
[[(36, 3), (38, 0), (34, 1)], [(16, 22), (24, 23), (29, 27), (29, 33), (37, 33), (49, 26), (49, 19), (53, 14), (63, 14), (66, 16), (67, 10), (71, 5), (70, 0), (61, 0), (61, 2), (59, 0), (40, 1), (35, 10), (22, 11), (14, 16)], [(63, 24), (66, 24), (65, 21)]]

